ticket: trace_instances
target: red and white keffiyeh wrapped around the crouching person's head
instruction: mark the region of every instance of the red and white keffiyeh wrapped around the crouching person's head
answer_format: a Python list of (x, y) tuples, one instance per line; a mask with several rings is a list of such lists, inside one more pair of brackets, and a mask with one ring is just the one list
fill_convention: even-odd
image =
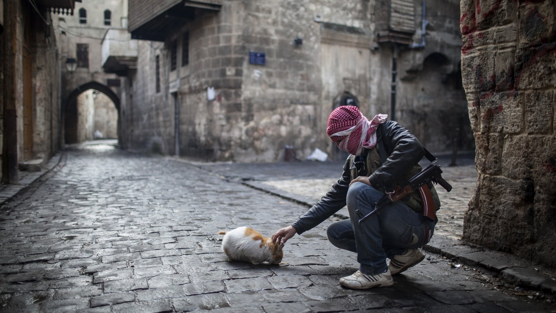
[(376, 145), (376, 128), (388, 118), (386, 114), (376, 115), (368, 120), (356, 106), (337, 107), (328, 118), (326, 134), (340, 150), (353, 155), (361, 155), (363, 148)]

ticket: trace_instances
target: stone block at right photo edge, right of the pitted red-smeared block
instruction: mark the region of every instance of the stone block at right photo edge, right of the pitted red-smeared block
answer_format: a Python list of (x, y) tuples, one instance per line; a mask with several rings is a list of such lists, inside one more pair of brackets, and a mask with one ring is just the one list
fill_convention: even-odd
[(533, 90), (525, 94), (525, 122), (529, 134), (547, 134), (553, 123), (552, 91)]

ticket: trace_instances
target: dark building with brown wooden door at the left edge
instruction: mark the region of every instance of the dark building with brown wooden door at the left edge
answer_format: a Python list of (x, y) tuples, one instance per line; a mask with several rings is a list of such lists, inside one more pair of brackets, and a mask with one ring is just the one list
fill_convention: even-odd
[(60, 141), (56, 28), (50, 11), (71, 13), (75, 1), (0, 1), (0, 143), (2, 183), (19, 170), (39, 170)]

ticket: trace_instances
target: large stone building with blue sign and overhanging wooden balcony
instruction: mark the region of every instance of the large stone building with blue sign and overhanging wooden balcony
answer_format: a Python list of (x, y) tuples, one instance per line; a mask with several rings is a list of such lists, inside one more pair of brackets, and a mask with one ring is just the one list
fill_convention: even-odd
[(142, 41), (122, 84), (126, 148), (236, 162), (283, 160), (286, 145), (299, 159), (315, 148), (335, 156), (325, 128), (342, 99), (370, 118), (390, 114), (429, 150), (451, 149), (456, 128), (460, 149), (474, 147), (459, 1), (130, 0), (129, 9)]

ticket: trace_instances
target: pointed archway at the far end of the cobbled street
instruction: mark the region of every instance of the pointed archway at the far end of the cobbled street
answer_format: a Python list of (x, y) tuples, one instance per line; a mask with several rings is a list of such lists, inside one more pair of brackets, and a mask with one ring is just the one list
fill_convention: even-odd
[(120, 98), (92, 81), (73, 90), (64, 102), (64, 143), (120, 136)]

